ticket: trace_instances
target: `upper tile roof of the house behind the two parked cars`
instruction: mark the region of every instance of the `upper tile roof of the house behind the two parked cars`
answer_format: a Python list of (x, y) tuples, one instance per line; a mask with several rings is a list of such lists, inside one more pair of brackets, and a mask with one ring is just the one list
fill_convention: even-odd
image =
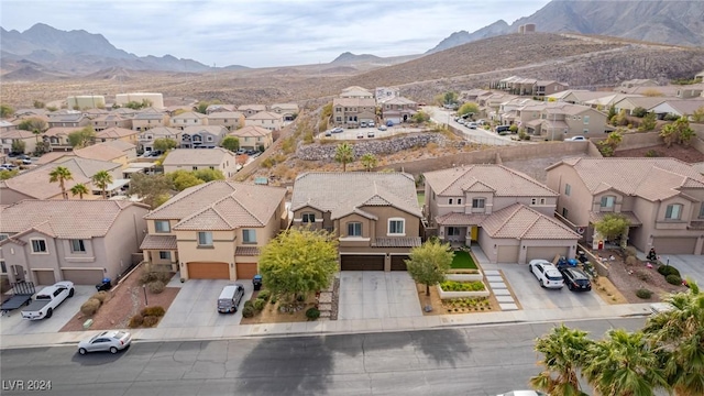
[(497, 197), (557, 197), (558, 193), (532, 178), (502, 165), (465, 165), (424, 174), (426, 183), (440, 196), (464, 191), (495, 191)]

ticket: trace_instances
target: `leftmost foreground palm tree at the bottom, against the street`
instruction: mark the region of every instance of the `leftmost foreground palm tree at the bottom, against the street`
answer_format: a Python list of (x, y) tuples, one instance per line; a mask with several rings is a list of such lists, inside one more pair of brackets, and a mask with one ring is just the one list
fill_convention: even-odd
[(579, 370), (587, 363), (587, 352), (594, 341), (586, 331), (560, 324), (539, 338), (536, 351), (542, 353), (544, 370), (530, 378), (530, 385), (551, 395), (585, 395), (580, 387)]

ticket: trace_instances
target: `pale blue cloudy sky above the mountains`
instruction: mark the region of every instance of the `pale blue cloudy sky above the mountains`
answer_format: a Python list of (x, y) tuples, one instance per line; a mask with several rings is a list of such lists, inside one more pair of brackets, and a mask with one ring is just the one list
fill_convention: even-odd
[(140, 56), (170, 54), (207, 65), (289, 66), (343, 52), (424, 53), (451, 33), (509, 24), (549, 0), (2, 0), (0, 25), (35, 23), (102, 34)]

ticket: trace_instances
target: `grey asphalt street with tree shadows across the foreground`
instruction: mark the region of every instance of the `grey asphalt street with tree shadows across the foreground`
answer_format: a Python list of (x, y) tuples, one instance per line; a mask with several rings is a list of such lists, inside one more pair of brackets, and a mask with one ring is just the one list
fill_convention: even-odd
[[(573, 321), (600, 339), (644, 318)], [(535, 339), (557, 323), (135, 342), (116, 355), (75, 345), (3, 350), (2, 395), (496, 395), (528, 388)], [(37, 383), (43, 382), (43, 383)], [(51, 391), (29, 391), (51, 382)], [(24, 389), (18, 389), (23, 386)]]

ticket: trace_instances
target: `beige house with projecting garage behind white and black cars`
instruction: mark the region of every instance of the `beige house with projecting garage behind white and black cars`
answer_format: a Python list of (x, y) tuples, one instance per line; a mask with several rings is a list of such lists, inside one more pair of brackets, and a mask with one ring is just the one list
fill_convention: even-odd
[(429, 230), (455, 245), (479, 243), (492, 263), (573, 257), (580, 234), (553, 217), (558, 193), (502, 165), (428, 172)]

